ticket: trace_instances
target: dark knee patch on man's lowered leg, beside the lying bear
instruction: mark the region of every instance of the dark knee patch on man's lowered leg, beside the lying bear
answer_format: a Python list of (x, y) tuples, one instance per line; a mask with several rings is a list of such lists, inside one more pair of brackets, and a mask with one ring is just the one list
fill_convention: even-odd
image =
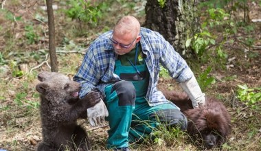
[(186, 130), (188, 127), (188, 119), (177, 108), (163, 109), (156, 111), (152, 117), (159, 119), (166, 126), (177, 126), (181, 130)]

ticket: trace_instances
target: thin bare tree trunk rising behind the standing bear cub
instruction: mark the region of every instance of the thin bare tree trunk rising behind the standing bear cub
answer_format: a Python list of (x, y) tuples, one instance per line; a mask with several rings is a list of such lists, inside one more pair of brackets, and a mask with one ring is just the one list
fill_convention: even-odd
[(51, 59), (51, 70), (53, 72), (58, 72), (58, 62), (55, 48), (54, 11), (52, 3), (52, 0), (46, 0), (49, 28), (49, 54)]

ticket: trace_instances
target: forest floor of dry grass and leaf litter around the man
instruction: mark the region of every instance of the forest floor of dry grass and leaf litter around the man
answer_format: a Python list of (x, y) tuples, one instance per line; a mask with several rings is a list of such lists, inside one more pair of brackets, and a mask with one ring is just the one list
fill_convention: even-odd
[[(141, 13), (144, 9), (144, 1), (137, 1), (132, 5), (122, 5), (122, 10), (108, 8), (110, 14), (106, 14), (108, 17), (104, 19), (106, 26), (82, 25), (81, 32), (77, 32), (75, 29), (79, 27), (79, 22), (66, 19), (65, 14), (59, 12), (59, 7), (66, 8), (66, 5), (57, 1), (54, 4), (58, 4), (55, 15), (57, 15), (56, 45), (58, 46), (59, 71), (70, 77), (76, 73), (81, 63), (84, 47), (87, 47), (104, 29), (111, 28), (119, 16), (124, 13), (137, 15), (141, 22), (145, 18), (145, 14)], [(112, 5), (112, 8), (120, 9), (117, 5), (117, 3)], [(249, 1), (247, 5), (249, 23), (252, 19), (261, 19), (260, 3)], [(21, 3), (15, 0), (5, 1), (5, 5), (1, 5), (5, 10), (0, 12), (0, 149), (35, 150), (37, 143), (42, 139), (38, 93), (35, 86), (38, 82), (36, 74), (42, 70), (49, 71), (47, 63), (43, 63), (46, 60), (49, 40), (45, 21), (47, 15), (42, 9), (44, 6), (44, 2)], [(244, 16), (242, 12), (238, 14), (238, 16)], [(21, 16), (21, 19), (18, 16)], [(251, 109), (236, 98), (238, 84), (247, 84), (249, 88), (261, 86), (261, 23), (251, 23), (251, 25), (255, 27), (255, 30), (249, 33), (240, 30), (234, 35), (255, 39), (251, 47), (239, 41), (225, 45), (228, 59), (224, 67), (213, 67), (214, 70), (210, 75), (216, 79), (216, 82), (204, 91), (206, 95), (213, 95), (223, 101), (231, 115), (232, 133), (224, 150), (260, 150), (261, 148), (260, 110)], [(25, 32), (25, 27), (31, 26), (34, 27), (34, 32), (32, 30)], [(87, 32), (84, 28), (92, 30)], [(70, 50), (76, 50), (78, 53)], [(38, 67), (41, 63), (43, 65)], [(216, 66), (219, 63), (221, 64), (221, 62), (216, 62)], [(193, 63), (190, 65), (194, 67)], [(208, 65), (200, 66), (198, 69), (195, 68), (196, 76), (200, 75), (201, 70), (203, 71)], [(22, 75), (20, 71), (23, 71)], [(181, 90), (174, 80), (167, 77), (160, 78), (158, 87), (159, 89)], [(261, 107), (260, 102), (257, 106)], [(93, 150), (105, 150), (108, 126), (91, 128), (86, 119), (80, 119), (78, 122), (89, 132), (89, 137), (93, 141)], [(160, 149), (158, 146), (146, 146), (146, 144), (139, 147), (132, 146), (132, 148), (135, 148), (134, 150), (197, 150), (189, 142)]]

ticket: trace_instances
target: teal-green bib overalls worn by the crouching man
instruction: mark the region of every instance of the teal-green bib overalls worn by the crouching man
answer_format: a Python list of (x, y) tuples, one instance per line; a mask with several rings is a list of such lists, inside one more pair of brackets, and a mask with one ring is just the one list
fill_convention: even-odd
[(113, 84), (105, 88), (105, 101), (109, 111), (108, 119), (111, 128), (108, 131), (107, 148), (123, 148), (128, 147), (128, 142), (143, 141), (150, 135), (152, 129), (159, 125), (156, 118), (151, 115), (155, 111), (162, 109), (176, 108), (172, 104), (148, 105), (145, 96), (148, 89), (149, 73), (145, 61), (143, 61), (142, 65), (137, 65), (137, 51), (139, 48), (137, 45), (135, 61), (128, 60), (131, 65), (124, 66), (121, 60), (116, 60), (114, 71), (122, 80), (130, 81), (135, 86), (135, 106), (119, 106), (117, 93), (115, 91), (111, 92)]

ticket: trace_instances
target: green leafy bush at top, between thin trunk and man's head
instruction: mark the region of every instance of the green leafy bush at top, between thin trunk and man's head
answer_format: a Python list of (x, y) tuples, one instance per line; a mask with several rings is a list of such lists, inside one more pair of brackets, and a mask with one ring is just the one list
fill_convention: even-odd
[(71, 19), (79, 19), (85, 23), (95, 25), (102, 16), (102, 7), (106, 7), (106, 3), (102, 2), (98, 5), (92, 5), (91, 2), (84, 0), (69, 0), (67, 4), (70, 6), (65, 10), (67, 16)]

